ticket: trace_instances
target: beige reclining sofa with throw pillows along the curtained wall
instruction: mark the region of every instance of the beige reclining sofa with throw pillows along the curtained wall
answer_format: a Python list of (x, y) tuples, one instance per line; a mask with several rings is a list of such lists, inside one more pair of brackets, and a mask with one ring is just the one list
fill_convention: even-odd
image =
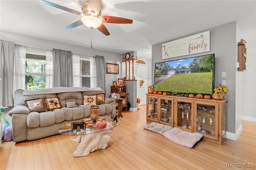
[(16, 90), (14, 108), (8, 113), (12, 116), (13, 141), (34, 140), (58, 134), (61, 126), (90, 117), (90, 106), (95, 104), (94, 100), (100, 102), (96, 104), (100, 106), (99, 116), (114, 116), (115, 100), (104, 98), (102, 101), (102, 94), (104, 95), (102, 88)]

